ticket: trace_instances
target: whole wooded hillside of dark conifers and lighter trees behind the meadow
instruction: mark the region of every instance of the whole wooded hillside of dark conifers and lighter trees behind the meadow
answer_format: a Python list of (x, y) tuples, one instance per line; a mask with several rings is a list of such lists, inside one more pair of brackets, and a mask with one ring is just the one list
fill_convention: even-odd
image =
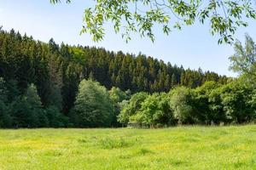
[(256, 90), (245, 75), (0, 30), (0, 127), (169, 127), (255, 118)]

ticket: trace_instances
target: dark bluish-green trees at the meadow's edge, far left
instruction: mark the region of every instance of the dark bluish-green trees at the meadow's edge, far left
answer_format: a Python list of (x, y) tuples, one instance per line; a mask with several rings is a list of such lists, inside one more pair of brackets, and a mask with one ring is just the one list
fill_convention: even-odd
[(0, 78), (0, 127), (67, 127), (68, 117), (54, 105), (44, 107), (34, 84), (21, 94)]

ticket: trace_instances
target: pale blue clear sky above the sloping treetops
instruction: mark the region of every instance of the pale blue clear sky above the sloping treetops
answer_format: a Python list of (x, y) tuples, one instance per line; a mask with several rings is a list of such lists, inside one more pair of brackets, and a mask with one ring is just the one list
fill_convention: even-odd
[[(236, 76), (228, 69), (228, 58), (234, 52), (233, 47), (218, 45), (218, 37), (212, 37), (208, 25), (184, 27), (182, 31), (172, 31), (169, 36), (158, 31), (155, 42), (133, 36), (131, 42), (126, 43), (109, 25), (102, 42), (92, 42), (90, 35), (80, 36), (84, 8), (89, 7), (90, 2), (92, 0), (74, 0), (71, 4), (53, 5), (49, 0), (0, 0), (0, 26), (7, 31), (14, 28), (20, 33), (26, 32), (44, 42), (53, 37), (59, 43), (103, 47), (132, 54), (142, 52), (165, 62), (183, 65), (184, 68), (201, 67), (204, 71)], [(256, 39), (255, 28), (256, 21), (249, 21), (249, 26), (239, 29), (235, 37), (243, 42), (247, 32)]]

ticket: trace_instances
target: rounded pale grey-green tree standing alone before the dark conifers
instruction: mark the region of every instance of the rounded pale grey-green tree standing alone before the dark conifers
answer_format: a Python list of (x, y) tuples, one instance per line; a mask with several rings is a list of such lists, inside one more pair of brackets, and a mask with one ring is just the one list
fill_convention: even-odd
[(82, 127), (109, 127), (113, 120), (113, 105), (107, 89), (92, 80), (79, 83), (74, 111), (81, 117)]

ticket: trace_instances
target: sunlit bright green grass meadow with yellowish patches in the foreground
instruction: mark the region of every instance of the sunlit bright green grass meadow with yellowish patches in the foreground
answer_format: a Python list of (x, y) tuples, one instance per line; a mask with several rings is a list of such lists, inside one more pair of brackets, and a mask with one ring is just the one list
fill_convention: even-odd
[(256, 126), (0, 130), (0, 169), (256, 169)]

